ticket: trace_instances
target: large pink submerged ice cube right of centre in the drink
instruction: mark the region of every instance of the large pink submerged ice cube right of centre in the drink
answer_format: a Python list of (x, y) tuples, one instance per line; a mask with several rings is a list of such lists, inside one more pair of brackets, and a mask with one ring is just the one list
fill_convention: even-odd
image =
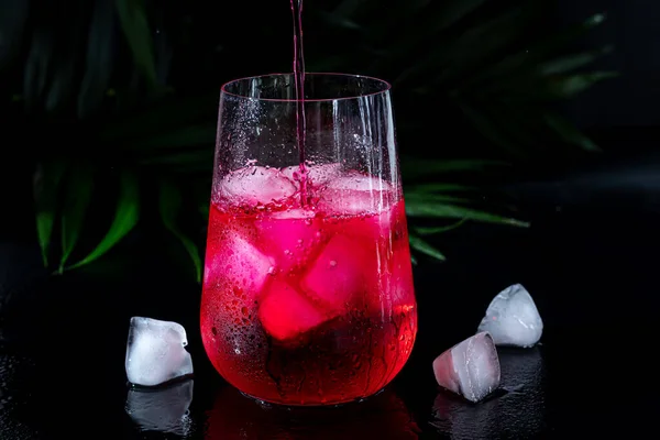
[(329, 309), (345, 310), (351, 298), (367, 289), (366, 277), (375, 260), (346, 235), (334, 235), (307, 272), (300, 287)]

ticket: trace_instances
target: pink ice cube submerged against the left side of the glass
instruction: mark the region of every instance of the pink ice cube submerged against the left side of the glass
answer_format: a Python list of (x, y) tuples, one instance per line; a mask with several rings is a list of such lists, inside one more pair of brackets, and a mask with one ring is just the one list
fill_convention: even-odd
[(274, 261), (248, 239), (229, 232), (217, 242), (209, 243), (205, 284), (222, 283), (226, 288), (240, 290), (253, 301), (263, 289)]

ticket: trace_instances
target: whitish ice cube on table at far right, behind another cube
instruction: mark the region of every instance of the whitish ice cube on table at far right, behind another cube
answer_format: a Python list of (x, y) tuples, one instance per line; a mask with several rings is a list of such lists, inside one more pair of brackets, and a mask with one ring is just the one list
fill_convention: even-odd
[(531, 295), (514, 284), (493, 298), (477, 331), (490, 332), (496, 345), (529, 348), (541, 339), (543, 321)]

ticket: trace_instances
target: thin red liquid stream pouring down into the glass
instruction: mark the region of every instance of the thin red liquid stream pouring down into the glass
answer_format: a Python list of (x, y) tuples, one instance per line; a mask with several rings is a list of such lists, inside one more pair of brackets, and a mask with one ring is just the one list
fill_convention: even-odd
[(296, 87), (296, 140), (298, 143), (298, 161), (300, 170), (300, 205), (307, 205), (307, 168), (305, 166), (305, 56), (302, 51), (302, 0), (292, 0), (294, 14), (294, 81)]

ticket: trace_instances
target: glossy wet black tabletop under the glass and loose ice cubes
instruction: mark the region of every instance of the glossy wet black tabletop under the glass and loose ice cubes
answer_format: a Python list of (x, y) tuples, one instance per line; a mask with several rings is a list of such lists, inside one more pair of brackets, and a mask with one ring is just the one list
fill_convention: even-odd
[[(404, 371), (365, 403), (311, 411), (263, 407), (223, 383), (201, 348), (199, 287), (173, 279), (166, 257), (48, 277), (33, 246), (2, 244), (0, 438), (636, 438), (659, 409), (659, 218), (603, 208), (537, 220), (443, 235), (449, 261), (415, 268), (420, 328)], [(499, 351), (502, 387), (485, 402), (438, 389), (433, 358), (473, 334), (491, 298), (514, 283), (537, 302), (542, 343)], [(131, 316), (183, 323), (195, 377), (131, 391)]]

